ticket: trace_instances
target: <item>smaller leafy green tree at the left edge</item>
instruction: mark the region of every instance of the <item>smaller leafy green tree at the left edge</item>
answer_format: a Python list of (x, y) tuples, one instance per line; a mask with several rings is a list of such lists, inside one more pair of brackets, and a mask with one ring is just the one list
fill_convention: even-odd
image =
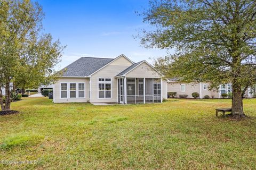
[[(0, 90), (2, 110), (9, 110), (17, 87), (38, 87), (51, 83), (57, 74), (52, 69), (63, 47), (50, 34), (42, 33), (44, 13), (38, 3), (0, 0)], [(16, 94), (15, 94), (16, 93)], [(11, 95), (14, 94), (14, 95)]]

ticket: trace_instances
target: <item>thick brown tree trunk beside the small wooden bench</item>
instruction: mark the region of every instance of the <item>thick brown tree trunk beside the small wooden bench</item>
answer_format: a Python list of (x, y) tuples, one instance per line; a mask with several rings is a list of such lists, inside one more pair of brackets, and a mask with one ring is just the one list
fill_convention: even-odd
[(247, 117), (243, 109), (242, 87), (237, 82), (233, 82), (232, 86), (232, 117), (236, 119)]

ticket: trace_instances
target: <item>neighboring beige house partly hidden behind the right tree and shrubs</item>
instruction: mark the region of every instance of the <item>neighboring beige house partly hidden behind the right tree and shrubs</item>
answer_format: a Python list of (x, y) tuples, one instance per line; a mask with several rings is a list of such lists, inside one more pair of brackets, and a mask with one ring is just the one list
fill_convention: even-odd
[[(221, 94), (229, 94), (232, 92), (232, 84), (222, 84), (219, 89), (209, 90), (209, 83), (182, 83), (178, 79), (169, 79), (167, 85), (168, 92), (177, 92), (179, 95), (188, 95), (188, 98), (193, 98), (192, 93), (198, 92), (199, 98), (204, 98), (204, 96), (209, 96), (210, 98), (222, 98)], [(252, 98), (255, 94), (253, 88), (248, 88), (245, 92), (244, 97)]]

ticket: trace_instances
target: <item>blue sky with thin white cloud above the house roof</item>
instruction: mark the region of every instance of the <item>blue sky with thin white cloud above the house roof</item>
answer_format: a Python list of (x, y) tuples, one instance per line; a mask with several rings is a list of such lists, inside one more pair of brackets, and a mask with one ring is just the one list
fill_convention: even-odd
[(146, 0), (37, 1), (43, 6), (44, 32), (67, 45), (61, 69), (82, 56), (115, 58), (124, 54), (134, 62), (164, 56), (166, 50), (147, 49), (133, 36), (149, 25), (135, 11), (148, 7)]

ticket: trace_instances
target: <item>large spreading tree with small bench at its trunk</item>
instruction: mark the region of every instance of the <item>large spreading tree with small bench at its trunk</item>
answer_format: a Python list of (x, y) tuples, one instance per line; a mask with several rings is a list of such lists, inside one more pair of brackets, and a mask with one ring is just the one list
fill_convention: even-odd
[(256, 2), (253, 0), (151, 1), (143, 15), (146, 47), (174, 48), (155, 65), (166, 77), (232, 83), (234, 118), (245, 117), (243, 94), (256, 78)]

